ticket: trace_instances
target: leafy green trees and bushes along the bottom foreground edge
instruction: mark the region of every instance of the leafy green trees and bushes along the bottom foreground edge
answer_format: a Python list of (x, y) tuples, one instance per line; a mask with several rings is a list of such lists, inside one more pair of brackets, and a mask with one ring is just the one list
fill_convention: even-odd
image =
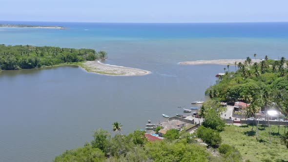
[[(118, 124), (115, 124), (118, 123)], [(112, 130), (118, 130), (121, 125), (114, 122)], [(122, 126), (122, 125), (121, 125)], [(120, 126), (120, 127), (121, 127)], [(203, 127), (203, 126), (202, 126)], [(212, 131), (216, 130), (200, 128)], [(211, 136), (210, 132), (205, 132)], [(168, 130), (166, 139), (162, 141), (148, 142), (144, 131), (136, 130), (128, 135), (116, 134), (111, 138), (110, 134), (98, 129), (94, 132), (94, 140), (86, 142), (84, 147), (67, 150), (55, 158), (54, 162), (241, 162), (239, 152), (228, 150), (226, 153), (213, 155), (214, 149), (197, 142), (194, 134), (184, 130)], [(210, 137), (211, 138), (211, 137)], [(215, 138), (214, 138), (215, 139)], [(219, 142), (217, 142), (219, 143)], [(215, 154), (215, 152), (214, 152)]]

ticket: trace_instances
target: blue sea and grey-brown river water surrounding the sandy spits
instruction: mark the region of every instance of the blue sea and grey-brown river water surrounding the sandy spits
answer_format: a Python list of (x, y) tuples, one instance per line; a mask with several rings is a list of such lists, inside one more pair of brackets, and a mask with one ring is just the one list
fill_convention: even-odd
[(77, 66), (1, 71), (0, 162), (49, 162), (91, 141), (97, 128), (112, 132), (114, 121), (127, 134), (143, 129), (148, 119), (157, 123), (165, 120), (162, 114), (183, 114), (178, 106), (207, 100), (206, 88), (226, 66), (180, 61), (253, 59), (254, 53), (288, 58), (287, 23), (56, 25), (69, 28), (1, 28), (0, 43), (94, 48), (108, 52), (104, 63), (152, 73), (106, 76)]

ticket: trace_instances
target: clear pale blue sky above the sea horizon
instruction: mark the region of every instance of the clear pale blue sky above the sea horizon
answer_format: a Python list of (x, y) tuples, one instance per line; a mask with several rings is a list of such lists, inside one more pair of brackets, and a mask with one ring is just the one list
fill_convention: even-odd
[(288, 0), (2, 0), (0, 2), (0, 20), (288, 21)]

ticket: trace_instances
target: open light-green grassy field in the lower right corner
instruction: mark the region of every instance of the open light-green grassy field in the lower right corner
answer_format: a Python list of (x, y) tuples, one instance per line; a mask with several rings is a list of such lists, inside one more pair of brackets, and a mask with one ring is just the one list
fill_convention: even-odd
[[(251, 162), (287, 162), (288, 149), (281, 143), (278, 126), (271, 125), (271, 144), (269, 144), (269, 129), (260, 125), (259, 140), (256, 140), (256, 127), (227, 125), (221, 132), (223, 143), (237, 148), (244, 160)], [(283, 135), (284, 126), (280, 126), (280, 134)]]

